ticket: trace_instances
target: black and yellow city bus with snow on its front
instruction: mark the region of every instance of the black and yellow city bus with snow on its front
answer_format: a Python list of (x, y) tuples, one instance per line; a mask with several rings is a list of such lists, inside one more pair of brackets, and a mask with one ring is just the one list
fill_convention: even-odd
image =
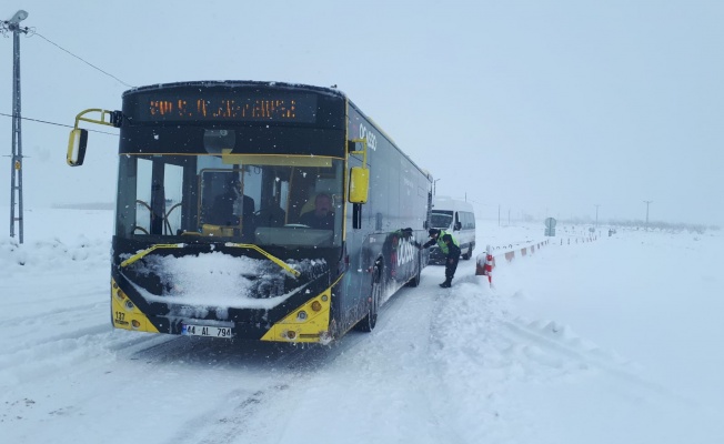
[(432, 176), (336, 89), (133, 88), (121, 111), (77, 115), (71, 167), (81, 122), (120, 130), (117, 329), (329, 343), (420, 283)]

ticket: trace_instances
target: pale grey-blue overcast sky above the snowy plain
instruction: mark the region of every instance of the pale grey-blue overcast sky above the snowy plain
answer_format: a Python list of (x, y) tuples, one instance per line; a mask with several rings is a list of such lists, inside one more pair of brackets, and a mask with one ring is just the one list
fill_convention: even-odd
[[(479, 215), (724, 225), (724, 1), (7, 0), (21, 24), (129, 85), (336, 84)], [(22, 117), (73, 124), (129, 87), (20, 38)], [(12, 113), (0, 38), (0, 113)], [(105, 127), (87, 127), (117, 133)], [(118, 137), (22, 122), (24, 205), (111, 202)], [(0, 115), (0, 205), (11, 119)], [(0, 220), (7, 224), (0, 214)], [(3, 230), (4, 232), (4, 230)]]

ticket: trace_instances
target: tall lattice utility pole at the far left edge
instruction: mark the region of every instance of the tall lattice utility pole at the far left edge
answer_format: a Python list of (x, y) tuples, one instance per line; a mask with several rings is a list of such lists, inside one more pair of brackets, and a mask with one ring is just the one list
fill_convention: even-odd
[[(28, 18), (22, 9), (8, 21), (1, 23), (0, 30), (12, 32), (12, 158), (10, 160), (10, 238), (18, 234), (22, 243), (22, 138), (20, 127), (20, 33), (28, 33), (28, 28), (20, 28), (20, 22)], [(18, 195), (18, 215), (16, 215), (16, 194)]]

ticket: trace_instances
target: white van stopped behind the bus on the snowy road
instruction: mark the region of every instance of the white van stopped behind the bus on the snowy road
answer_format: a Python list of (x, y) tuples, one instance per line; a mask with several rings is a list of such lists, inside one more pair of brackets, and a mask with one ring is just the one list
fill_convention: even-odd
[[(445, 230), (460, 244), (462, 258), (473, 256), (475, 249), (475, 212), (470, 202), (446, 196), (432, 198), (432, 218), (430, 228)], [(430, 249), (430, 262), (440, 263), (444, 258), (436, 245)]]

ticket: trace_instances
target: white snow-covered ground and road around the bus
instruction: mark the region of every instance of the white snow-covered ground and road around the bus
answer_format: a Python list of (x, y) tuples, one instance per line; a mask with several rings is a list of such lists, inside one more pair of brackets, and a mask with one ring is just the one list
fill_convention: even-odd
[[(724, 442), (721, 232), (559, 225), (492, 287), (429, 266), (373, 333), (301, 347), (112, 330), (111, 211), (0, 229), (2, 442)], [(543, 240), (479, 221), (475, 253)]]

